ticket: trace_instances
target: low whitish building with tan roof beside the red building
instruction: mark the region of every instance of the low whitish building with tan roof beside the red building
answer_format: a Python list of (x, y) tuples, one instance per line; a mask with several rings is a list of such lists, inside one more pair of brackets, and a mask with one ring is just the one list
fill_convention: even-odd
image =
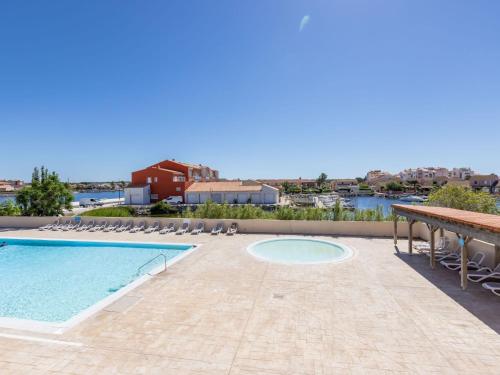
[(186, 189), (187, 204), (205, 203), (278, 204), (279, 190), (257, 181), (194, 182)]

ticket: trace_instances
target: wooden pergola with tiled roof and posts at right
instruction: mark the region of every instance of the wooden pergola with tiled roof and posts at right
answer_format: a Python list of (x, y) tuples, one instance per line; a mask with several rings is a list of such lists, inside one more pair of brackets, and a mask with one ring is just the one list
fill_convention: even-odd
[(408, 220), (408, 252), (412, 254), (413, 225), (419, 221), (427, 225), (430, 231), (430, 263), (436, 266), (435, 232), (439, 229), (441, 236), (445, 230), (456, 233), (461, 251), (461, 285), (467, 287), (467, 244), (473, 239), (495, 245), (495, 263), (500, 262), (500, 216), (478, 212), (462, 211), (445, 207), (413, 206), (393, 204), (394, 212), (394, 245), (398, 242), (398, 217)]

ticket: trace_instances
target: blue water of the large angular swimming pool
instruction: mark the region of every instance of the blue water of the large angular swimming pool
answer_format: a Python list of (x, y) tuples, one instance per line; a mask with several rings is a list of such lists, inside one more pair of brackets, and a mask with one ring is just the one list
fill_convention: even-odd
[(64, 322), (189, 245), (0, 238), (0, 317)]

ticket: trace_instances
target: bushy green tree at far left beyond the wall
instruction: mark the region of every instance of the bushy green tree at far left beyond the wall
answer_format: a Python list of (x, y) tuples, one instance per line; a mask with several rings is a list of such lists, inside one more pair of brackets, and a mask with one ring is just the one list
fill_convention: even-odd
[(19, 190), (16, 201), (24, 216), (57, 216), (63, 209), (71, 210), (73, 195), (57, 173), (42, 166), (33, 170), (31, 186)]

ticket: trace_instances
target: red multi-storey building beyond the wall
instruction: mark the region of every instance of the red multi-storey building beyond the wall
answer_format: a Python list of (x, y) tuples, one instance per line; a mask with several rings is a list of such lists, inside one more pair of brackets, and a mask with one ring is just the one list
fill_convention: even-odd
[(197, 181), (216, 181), (219, 172), (201, 164), (164, 160), (145, 169), (132, 172), (132, 185), (149, 185), (151, 201), (169, 196), (182, 196), (186, 188)]

